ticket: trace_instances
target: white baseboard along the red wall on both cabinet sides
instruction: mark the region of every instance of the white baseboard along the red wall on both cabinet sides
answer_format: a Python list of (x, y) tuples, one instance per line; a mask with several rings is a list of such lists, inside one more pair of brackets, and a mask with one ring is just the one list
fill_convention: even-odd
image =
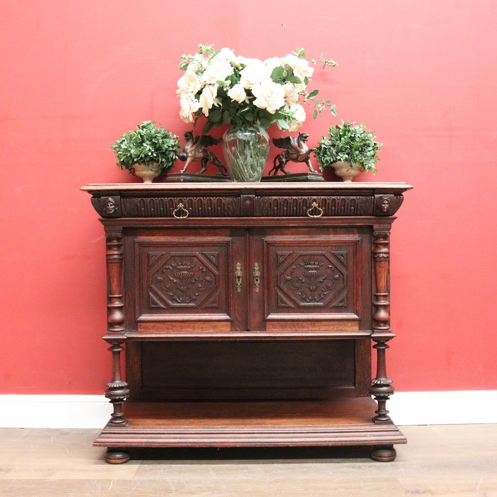
[[(497, 390), (397, 392), (387, 402), (398, 425), (497, 423)], [(0, 395), (1, 428), (102, 428), (103, 395)]]

